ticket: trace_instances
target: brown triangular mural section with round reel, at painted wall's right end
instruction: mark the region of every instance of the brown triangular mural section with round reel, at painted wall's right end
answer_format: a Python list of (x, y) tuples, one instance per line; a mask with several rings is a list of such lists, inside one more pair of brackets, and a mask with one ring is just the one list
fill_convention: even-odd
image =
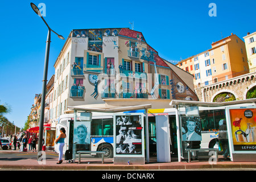
[(172, 99), (185, 100), (185, 101), (198, 101), (195, 93), (178, 77), (172, 72), (172, 79), (170, 80), (171, 95)]

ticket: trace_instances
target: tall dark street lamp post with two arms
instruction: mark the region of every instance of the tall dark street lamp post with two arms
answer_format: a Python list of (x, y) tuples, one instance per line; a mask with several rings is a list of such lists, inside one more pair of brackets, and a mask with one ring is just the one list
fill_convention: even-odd
[(48, 35), (47, 35), (47, 41), (46, 41), (46, 56), (44, 57), (44, 75), (43, 75), (43, 88), (42, 88), (42, 98), (41, 98), (41, 113), (40, 113), (40, 119), (39, 119), (39, 138), (38, 138), (38, 158), (37, 160), (40, 160), (40, 157), (42, 156), (42, 147), (43, 147), (43, 132), (44, 132), (44, 106), (46, 105), (46, 84), (47, 84), (47, 73), (48, 73), (48, 63), (49, 63), (49, 48), (51, 43), (51, 31), (54, 32), (58, 38), (63, 39), (63, 36), (57, 34), (55, 31), (53, 31), (48, 24), (46, 23), (46, 20), (44, 20), (42, 14), (40, 13), (38, 7), (34, 3), (30, 3), (32, 9), (35, 11), (36, 14), (38, 14), (48, 27)]

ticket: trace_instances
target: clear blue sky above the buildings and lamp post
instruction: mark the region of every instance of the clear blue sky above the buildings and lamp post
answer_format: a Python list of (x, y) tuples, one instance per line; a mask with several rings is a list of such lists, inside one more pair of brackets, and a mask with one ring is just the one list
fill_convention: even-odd
[[(6, 117), (24, 127), (36, 93), (42, 93), (47, 27), (30, 2), (46, 5), (49, 26), (65, 39), (72, 29), (129, 27), (141, 31), (147, 43), (167, 60), (180, 60), (210, 48), (223, 36), (243, 40), (256, 31), (255, 0), (142, 0), (142, 1), (1, 1), (0, 104), (12, 112)], [(210, 17), (210, 3), (217, 16)], [(52, 34), (48, 80), (65, 40)]]

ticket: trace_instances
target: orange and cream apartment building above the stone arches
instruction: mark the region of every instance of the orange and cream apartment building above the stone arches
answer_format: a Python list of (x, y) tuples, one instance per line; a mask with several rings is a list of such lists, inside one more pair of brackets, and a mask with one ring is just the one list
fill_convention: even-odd
[(195, 88), (249, 73), (245, 43), (237, 35), (213, 42), (211, 46), (176, 64), (194, 76)]

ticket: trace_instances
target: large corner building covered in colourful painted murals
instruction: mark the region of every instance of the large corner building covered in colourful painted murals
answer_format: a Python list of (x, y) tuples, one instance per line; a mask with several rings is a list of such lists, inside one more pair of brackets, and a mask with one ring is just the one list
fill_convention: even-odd
[(67, 106), (198, 100), (193, 75), (162, 59), (142, 32), (129, 28), (72, 30), (54, 67), (52, 118)]

